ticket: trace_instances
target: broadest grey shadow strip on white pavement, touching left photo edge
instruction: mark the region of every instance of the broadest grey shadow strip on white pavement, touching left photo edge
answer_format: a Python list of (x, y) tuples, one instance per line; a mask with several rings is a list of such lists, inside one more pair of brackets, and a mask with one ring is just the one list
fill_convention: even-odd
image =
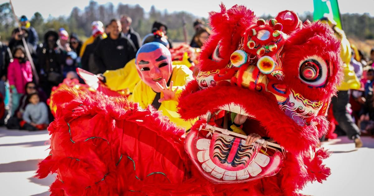
[(0, 172), (26, 172), (35, 171), (40, 159), (16, 161), (0, 164)]

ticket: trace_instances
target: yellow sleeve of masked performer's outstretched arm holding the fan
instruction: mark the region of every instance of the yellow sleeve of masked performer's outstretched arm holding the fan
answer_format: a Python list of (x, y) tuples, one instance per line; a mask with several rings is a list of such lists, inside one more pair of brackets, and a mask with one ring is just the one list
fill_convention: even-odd
[(130, 93), (133, 93), (135, 85), (140, 81), (135, 66), (135, 58), (129, 61), (125, 67), (116, 70), (107, 70), (103, 75), (106, 80), (105, 84), (114, 91), (129, 88)]

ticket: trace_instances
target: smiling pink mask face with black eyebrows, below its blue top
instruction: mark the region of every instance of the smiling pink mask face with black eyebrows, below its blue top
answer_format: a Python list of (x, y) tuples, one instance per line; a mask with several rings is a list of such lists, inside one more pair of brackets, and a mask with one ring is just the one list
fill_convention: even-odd
[(152, 52), (142, 52), (137, 55), (137, 70), (140, 79), (150, 86), (153, 91), (160, 92), (156, 82), (162, 85), (162, 80), (168, 82), (172, 73), (170, 52), (166, 48), (157, 48)]

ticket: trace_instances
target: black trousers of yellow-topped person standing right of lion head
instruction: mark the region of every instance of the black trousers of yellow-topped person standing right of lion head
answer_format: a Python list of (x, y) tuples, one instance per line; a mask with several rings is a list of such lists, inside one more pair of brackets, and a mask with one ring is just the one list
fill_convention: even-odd
[(349, 91), (338, 91), (337, 97), (332, 97), (332, 112), (340, 128), (347, 133), (349, 139), (360, 135), (360, 130), (353, 123), (352, 116), (348, 114), (346, 106), (349, 103)]

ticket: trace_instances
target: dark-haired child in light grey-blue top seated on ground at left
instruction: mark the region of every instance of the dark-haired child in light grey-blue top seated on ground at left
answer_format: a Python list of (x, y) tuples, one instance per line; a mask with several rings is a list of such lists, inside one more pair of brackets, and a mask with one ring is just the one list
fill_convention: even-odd
[(22, 115), (21, 128), (29, 131), (44, 130), (49, 124), (48, 108), (44, 102), (40, 102), (38, 93), (28, 96), (29, 104)]

